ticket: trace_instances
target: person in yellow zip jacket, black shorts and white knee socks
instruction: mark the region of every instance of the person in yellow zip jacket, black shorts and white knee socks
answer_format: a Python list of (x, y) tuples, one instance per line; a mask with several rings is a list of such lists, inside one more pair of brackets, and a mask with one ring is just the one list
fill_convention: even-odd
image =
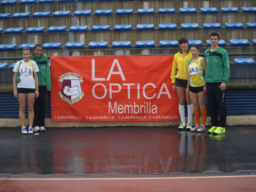
[[(179, 112), (180, 112), (180, 126), (179, 129), (192, 128), (192, 117), (193, 117), (193, 104), (189, 95), (186, 94), (187, 83), (188, 83), (188, 61), (192, 59), (192, 54), (188, 50), (188, 39), (182, 37), (179, 40), (181, 51), (176, 53), (173, 58), (173, 66), (171, 72), (171, 79), (173, 83), (173, 91), (177, 92), (179, 99)], [(188, 122), (185, 124), (185, 99), (188, 107)]]

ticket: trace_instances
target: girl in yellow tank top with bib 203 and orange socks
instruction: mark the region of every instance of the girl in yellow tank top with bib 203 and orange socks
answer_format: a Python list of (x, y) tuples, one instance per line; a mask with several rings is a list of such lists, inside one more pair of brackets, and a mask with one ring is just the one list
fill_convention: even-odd
[[(199, 57), (199, 47), (194, 44), (191, 46), (191, 54), (193, 59), (188, 62), (188, 86), (186, 93), (190, 96), (193, 104), (193, 115), (195, 118), (195, 125), (191, 131), (205, 131), (206, 122), (206, 61), (203, 57)], [(200, 111), (199, 111), (200, 108)], [(201, 125), (199, 124), (199, 117), (201, 114)], [(200, 125), (200, 126), (199, 126)]]

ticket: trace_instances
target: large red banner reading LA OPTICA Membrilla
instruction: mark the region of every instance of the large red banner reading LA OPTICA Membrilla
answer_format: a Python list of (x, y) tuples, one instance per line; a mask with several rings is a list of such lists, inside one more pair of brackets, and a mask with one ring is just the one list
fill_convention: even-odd
[(173, 56), (51, 57), (52, 121), (179, 120)]

